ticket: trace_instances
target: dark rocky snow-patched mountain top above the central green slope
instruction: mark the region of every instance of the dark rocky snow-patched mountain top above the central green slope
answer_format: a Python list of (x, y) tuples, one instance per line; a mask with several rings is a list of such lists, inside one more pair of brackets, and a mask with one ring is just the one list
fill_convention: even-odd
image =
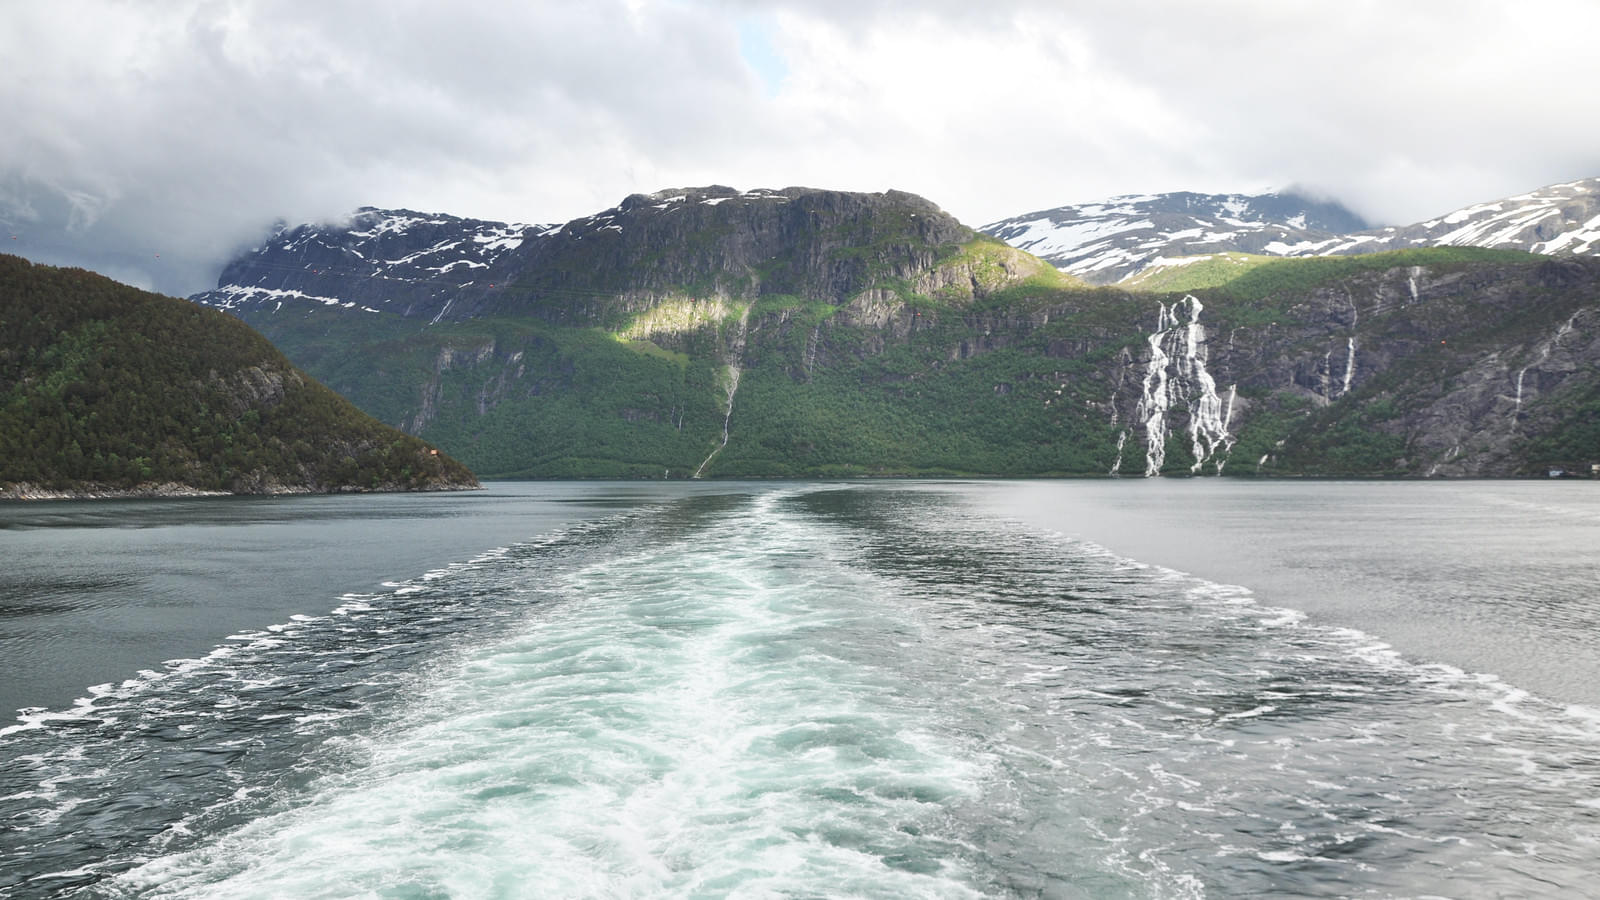
[(630, 306), (683, 290), (843, 301), (882, 279), (918, 280), (976, 237), (902, 191), (674, 187), (558, 226), (363, 207), (342, 223), (280, 227), (195, 299), (237, 312), (320, 304), (429, 322), (570, 322), (603, 317), (611, 299)]

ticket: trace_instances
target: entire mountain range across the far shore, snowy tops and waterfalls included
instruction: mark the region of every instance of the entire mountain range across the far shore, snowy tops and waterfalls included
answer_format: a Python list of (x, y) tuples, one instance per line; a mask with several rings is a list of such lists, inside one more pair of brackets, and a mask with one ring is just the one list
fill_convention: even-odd
[[(686, 187), (531, 226), (366, 208), (280, 227), (194, 299), (488, 476), (1587, 472), (1594, 187), (1378, 231), (1294, 195), (994, 234), (896, 191)], [(1054, 256), (998, 239), (1090, 218)], [(1517, 234), (1563, 258), (1432, 245)]]

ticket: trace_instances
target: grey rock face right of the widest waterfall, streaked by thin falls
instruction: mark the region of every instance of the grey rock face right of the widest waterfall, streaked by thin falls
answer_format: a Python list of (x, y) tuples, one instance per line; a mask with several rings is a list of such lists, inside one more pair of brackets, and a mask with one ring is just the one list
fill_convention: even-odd
[[(1211, 330), (1206, 344), (1218, 394), (1256, 399), (1232, 408), (1235, 436), (1262, 412), (1306, 410), (1269, 448), (1280, 472), (1339, 472), (1328, 458), (1352, 426), (1402, 448), (1386, 474), (1506, 477), (1530, 474), (1531, 440), (1584, 415), (1597, 327), (1600, 259), (1566, 259), (1368, 272), (1296, 298), (1270, 325)], [(1138, 399), (1123, 388), (1114, 402)], [(1186, 426), (1187, 412), (1166, 428)], [(1600, 461), (1600, 447), (1590, 453)]]

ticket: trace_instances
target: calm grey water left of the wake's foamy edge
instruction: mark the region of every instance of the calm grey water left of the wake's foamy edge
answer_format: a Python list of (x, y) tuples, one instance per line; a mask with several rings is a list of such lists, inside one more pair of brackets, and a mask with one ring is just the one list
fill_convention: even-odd
[[(682, 490), (672, 492), (678, 496)], [(659, 496), (650, 484), (0, 503), (0, 716)]]

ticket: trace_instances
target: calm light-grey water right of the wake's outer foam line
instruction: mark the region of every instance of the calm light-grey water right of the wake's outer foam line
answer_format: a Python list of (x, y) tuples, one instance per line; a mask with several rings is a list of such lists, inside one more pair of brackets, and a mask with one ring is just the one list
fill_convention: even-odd
[(1600, 482), (995, 482), (997, 516), (1600, 709)]

